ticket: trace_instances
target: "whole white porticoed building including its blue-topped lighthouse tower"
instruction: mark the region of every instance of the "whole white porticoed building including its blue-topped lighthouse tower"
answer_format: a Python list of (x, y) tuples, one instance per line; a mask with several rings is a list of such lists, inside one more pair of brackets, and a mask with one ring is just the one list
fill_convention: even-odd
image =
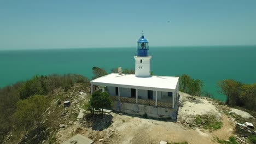
[(149, 117), (177, 118), (179, 98), (179, 77), (150, 75), (148, 41), (144, 35), (137, 42), (135, 75), (118, 73), (98, 77), (91, 81), (91, 93), (94, 85), (102, 87), (114, 100), (113, 109), (130, 114)]

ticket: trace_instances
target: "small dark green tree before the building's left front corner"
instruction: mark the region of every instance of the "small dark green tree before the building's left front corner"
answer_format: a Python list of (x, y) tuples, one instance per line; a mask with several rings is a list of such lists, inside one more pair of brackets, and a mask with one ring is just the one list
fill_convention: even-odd
[(102, 109), (101, 113), (103, 113), (103, 109), (110, 109), (112, 105), (113, 101), (108, 93), (96, 91), (92, 93), (89, 104), (87, 104), (86, 107), (94, 114), (95, 110)]

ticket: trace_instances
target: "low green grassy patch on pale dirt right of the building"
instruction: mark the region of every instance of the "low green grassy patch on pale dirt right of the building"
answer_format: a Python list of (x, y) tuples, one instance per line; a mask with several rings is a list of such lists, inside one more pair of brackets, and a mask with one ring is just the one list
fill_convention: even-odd
[(222, 122), (219, 122), (214, 115), (197, 115), (195, 123), (202, 126), (204, 129), (217, 130), (222, 127)]

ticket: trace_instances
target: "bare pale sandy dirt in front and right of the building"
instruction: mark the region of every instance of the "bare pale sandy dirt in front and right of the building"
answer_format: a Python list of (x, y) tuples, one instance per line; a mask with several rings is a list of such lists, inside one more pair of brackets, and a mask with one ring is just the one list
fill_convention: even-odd
[[(189, 143), (217, 143), (216, 137), (228, 140), (233, 134), (234, 125), (229, 117), (220, 111), (213, 103), (206, 99), (196, 98), (194, 101), (188, 100), (191, 96), (180, 93), (184, 106), (180, 107), (177, 122), (158, 121), (154, 119), (145, 119), (136, 116), (118, 115), (110, 113), (112, 124), (103, 130), (93, 130), (85, 127), (79, 122), (75, 122), (68, 128), (57, 132), (57, 141), (62, 143), (73, 135), (79, 133), (92, 140), (95, 143), (159, 143), (161, 140), (167, 142)], [(223, 127), (209, 131), (202, 128), (185, 127), (180, 121), (195, 115), (205, 113), (215, 113), (220, 117)], [(101, 122), (104, 123), (104, 122)], [(103, 139), (102, 141), (98, 141)]]

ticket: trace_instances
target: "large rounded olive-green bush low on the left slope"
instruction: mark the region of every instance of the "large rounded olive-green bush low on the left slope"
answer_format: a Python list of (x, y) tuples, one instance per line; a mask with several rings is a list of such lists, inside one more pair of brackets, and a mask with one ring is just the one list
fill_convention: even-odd
[(44, 95), (33, 95), (28, 99), (19, 100), (16, 106), (17, 110), (13, 115), (16, 122), (25, 127), (29, 127), (35, 122), (37, 129), (40, 130), (44, 112), (49, 106), (46, 97)]

